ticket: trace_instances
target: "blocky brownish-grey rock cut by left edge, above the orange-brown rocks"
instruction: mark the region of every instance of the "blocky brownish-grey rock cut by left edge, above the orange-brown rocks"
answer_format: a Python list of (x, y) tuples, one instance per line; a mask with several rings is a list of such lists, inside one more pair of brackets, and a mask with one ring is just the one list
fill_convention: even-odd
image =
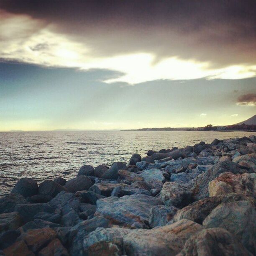
[(10, 229), (17, 229), (22, 225), (18, 212), (0, 214), (0, 232)]

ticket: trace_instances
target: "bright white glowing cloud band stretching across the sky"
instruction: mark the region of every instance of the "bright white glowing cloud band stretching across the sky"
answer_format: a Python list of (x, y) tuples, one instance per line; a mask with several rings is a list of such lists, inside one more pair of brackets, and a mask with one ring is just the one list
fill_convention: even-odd
[[(242, 79), (256, 76), (256, 66), (236, 65), (222, 69), (210, 68), (210, 63), (183, 60), (177, 56), (155, 63), (152, 53), (139, 52), (98, 57), (95, 49), (77, 43), (54, 32), (28, 15), (0, 12), (0, 58), (46, 67), (76, 67), (82, 70), (111, 69), (124, 75), (105, 82), (136, 84), (158, 79)], [(21, 35), (21, 36), (20, 36)], [(201, 114), (204, 116), (206, 114)]]

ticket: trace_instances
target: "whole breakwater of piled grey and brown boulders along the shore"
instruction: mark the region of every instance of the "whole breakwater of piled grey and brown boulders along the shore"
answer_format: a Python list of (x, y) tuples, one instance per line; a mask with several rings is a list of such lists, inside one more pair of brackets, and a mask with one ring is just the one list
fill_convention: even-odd
[(0, 198), (0, 255), (255, 255), (256, 136), (76, 175)]

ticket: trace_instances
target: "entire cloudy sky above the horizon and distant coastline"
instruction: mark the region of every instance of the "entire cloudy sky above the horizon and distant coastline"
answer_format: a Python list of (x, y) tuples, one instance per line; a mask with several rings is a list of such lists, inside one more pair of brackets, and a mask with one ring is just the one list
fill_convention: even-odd
[(255, 112), (254, 0), (0, 1), (0, 131), (230, 125)]

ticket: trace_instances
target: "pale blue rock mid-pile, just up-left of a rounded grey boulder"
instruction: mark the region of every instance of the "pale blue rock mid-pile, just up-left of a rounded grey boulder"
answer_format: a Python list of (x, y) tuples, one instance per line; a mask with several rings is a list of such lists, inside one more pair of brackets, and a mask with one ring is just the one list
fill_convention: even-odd
[(149, 183), (152, 188), (162, 187), (163, 186), (162, 182), (165, 180), (162, 172), (156, 168), (145, 170), (139, 175), (144, 179), (145, 182)]

